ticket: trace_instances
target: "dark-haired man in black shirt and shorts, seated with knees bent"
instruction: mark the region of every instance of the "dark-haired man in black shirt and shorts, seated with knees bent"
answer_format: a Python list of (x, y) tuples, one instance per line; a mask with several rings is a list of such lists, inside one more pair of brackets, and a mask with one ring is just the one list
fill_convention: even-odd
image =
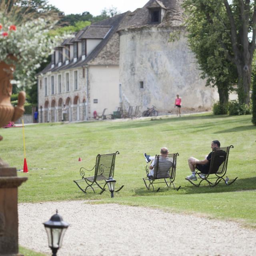
[[(213, 140), (211, 144), (212, 152), (214, 150), (218, 150), (220, 148), (220, 142), (218, 140)], [(187, 176), (186, 179), (188, 180), (197, 180), (195, 170), (198, 169), (202, 174), (200, 175), (201, 178), (205, 178), (205, 174), (208, 174), (210, 169), (210, 163), (212, 159), (212, 152), (206, 156), (204, 160), (198, 160), (194, 157), (188, 158), (188, 166), (192, 172), (191, 175)]]

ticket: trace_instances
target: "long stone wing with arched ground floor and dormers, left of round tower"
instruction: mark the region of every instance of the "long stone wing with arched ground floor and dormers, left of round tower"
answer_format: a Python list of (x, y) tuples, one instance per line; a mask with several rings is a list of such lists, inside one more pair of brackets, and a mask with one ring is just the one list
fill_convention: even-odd
[(38, 74), (39, 122), (88, 120), (93, 112), (119, 106), (119, 36), (126, 13), (80, 30), (54, 49)]

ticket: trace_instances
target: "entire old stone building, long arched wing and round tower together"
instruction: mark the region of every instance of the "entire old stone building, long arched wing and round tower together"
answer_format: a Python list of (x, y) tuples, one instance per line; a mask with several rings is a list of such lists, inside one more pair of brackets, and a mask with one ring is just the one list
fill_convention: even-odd
[[(210, 110), (218, 94), (205, 87), (182, 27), (182, 0), (150, 0), (92, 24), (55, 49), (38, 76), (39, 122), (89, 120), (93, 112), (111, 114), (122, 106), (152, 105), (171, 112), (176, 94), (183, 109)], [(170, 42), (170, 33), (180, 38)]]

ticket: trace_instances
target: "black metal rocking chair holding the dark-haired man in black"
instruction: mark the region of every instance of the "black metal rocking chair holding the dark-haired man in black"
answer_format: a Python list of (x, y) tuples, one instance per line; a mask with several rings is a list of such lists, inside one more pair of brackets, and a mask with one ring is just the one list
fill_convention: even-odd
[[(233, 145), (228, 147), (218, 148), (212, 152), (212, 159), (210, 163), (210, 169), (208, 174), (202, 175), (201, 172), (196, 171), (196, 176), (200, 180), (198, 184), (194, 183), (192, 180), (188, 180), (194, 186), (199, 187), (200, 184), (206, 181), (210, 187), (218, 185), (220, 182), (225, 182), (226, 185), (230, 185), (236, 181), (238, 177), (233, 180), (225, 179), (225, 175), (228, 167), (228, 155), (230, 148), (234, 148)], [(214, 176), (213, 176), (214, 175)]]

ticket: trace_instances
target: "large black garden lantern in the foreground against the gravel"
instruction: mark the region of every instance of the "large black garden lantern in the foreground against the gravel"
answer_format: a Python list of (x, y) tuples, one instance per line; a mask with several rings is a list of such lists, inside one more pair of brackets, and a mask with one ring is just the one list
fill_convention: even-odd
[(56, 214), (52, 215), (50, 220), (43, 224), (48, 236), (49, 247), (52, 249), (52, 256), (56, 256), (69, 224), (63, 221), (62, 217), (58, 214), (58, 210), (56, 210)]

